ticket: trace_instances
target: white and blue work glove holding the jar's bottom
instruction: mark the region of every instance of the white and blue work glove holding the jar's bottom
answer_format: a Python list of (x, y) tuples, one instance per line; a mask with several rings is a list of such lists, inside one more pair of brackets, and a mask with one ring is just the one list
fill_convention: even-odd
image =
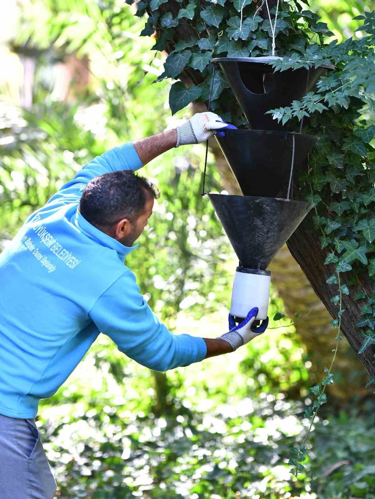
[(258, 327), (253, 326), (255, 317), (258, 315), (258, 307), (254, 307), (247, 314), (246, 319), (240, 324), (236, 325), (233, 315), (229, 314), (229, 332), (222, 334), (218, 339), (227, 341), (234, 350), (238, 347), (246, 345), (256, 336), (260, 336), (267, 329), (268, 317), (262, 321), (262, 324)]

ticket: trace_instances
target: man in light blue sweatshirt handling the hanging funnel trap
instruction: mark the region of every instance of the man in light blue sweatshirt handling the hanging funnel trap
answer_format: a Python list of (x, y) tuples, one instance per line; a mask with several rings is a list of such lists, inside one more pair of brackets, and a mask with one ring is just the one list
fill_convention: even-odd
[[(94, 158), (26, 220), (0, 255), (0, 498), (52, 499), (55, 481), (33, 418), (99, 332), (140, 364), (165, 371), (232, 352), (261, 334), (254, 308), (216, 339), (173, 335), (123, 261), (157, 192), (134, 174), (183, 144), (233, 128), (214, 113)], [(221, 131), (220, 133), (223, 133)]]

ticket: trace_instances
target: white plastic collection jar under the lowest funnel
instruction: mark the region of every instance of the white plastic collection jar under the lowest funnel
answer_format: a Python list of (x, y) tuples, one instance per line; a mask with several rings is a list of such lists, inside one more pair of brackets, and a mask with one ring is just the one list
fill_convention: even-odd
[(234, 317), (245, 318), (252, 308), (258, 307), (256, 319), (266, 319), (270, 290), (271, 272), (269, 270), (237, 267), (230, 313)]

